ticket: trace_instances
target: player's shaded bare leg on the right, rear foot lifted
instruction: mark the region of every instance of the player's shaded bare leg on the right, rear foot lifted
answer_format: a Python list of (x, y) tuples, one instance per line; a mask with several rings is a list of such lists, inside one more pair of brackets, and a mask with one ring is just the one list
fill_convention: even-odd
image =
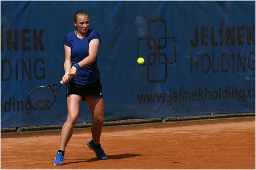
[(104, 101), (103, 98), (85, 97), (88, 107), (92, 114), (92, 141), (98, 145), (100, 143), (100, 135), (102, 124), (104, 121)]

